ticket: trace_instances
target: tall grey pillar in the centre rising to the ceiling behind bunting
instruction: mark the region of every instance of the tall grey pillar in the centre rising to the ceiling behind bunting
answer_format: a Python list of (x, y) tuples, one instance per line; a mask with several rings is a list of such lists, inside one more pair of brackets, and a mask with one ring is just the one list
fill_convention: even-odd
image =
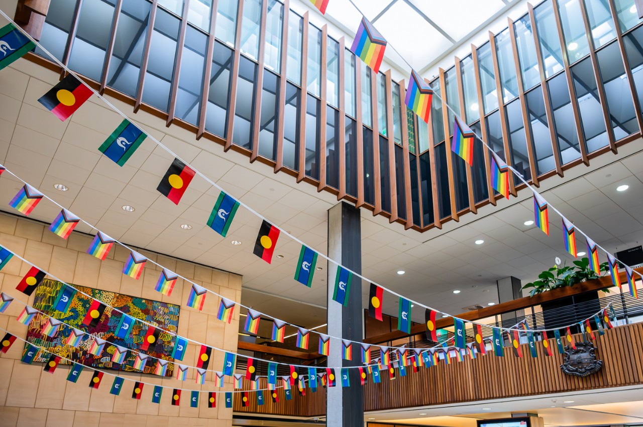
[[(345, 202), (328, 211), (328, 254), (345, 268), (361, 274), (361, 217), (359, 209)], [(332, 293), (338, 266), (328, 266), (328, 334), (346, 340), (361, 341), (363, 320), (361, 308), (361, 279), (353, 277), (347, 306), (333, 301)], [(353, 358), (359, 360), (359, 347), (353, 344)], [(359, 362), (342, 360), (341, 342), (331, 340), (328, 356), (331, 367), (357, 366)], [(328, 427), (363, 427), (364, 396), (359, 386), (359, 371), (350, 369), (350, 386), (341, 387), (341, 372), (336, 371), (337, 386), (327, 388), (326, 425)]]

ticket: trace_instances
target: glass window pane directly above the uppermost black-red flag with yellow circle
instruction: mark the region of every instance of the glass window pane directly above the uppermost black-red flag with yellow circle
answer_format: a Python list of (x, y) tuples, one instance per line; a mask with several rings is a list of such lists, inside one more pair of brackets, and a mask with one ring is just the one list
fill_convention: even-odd
[(113, 16), (113, 4), (102, 0), (82, 3), (76, 37), (71, 45), (69, 68), (100, 82)]

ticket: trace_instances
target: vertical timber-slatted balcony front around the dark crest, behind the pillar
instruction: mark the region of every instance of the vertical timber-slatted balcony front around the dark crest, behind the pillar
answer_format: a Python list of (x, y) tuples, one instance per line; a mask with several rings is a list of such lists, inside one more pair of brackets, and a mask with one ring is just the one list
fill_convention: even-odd
[[(603, 365), (599, 372), (586, 378), (563, 374), (560, 369), (563, 355), (557, 352), (556, 341), (550, 339), (548, 342), (554, 352), (551, 357), (545, 356), (541, 342), (537, 342), (538, 358), (532, 358), (529, 345), (523, 344), (522, 358), (514, 356), (511, 348), (507, 347), (504, 357), (497, 357), (490, 351), (474, 360), (466, 358), (450, 365), (440, 361), (439, 365), (421, 367), (416, 373), (408, 369), (405, 377), (400, 377), (397, 372), (397, 379), (393, 381), (386, 379), (388, 377), (384, 372), (381, 383), (369, 382), (364, 386), (364, 410), (412, 408), (642, 384), (643, 362), (638, 355), (643, 348), (643, 324), (619, 326), (606, 331), (603, 336), (596, 335), (593, 340), (597, 348), (596, 356)], [(574, 335), (574, 338), (576, 341), (583, 340), (581, 335)], [(351, 379), (351, 387), (361, 387), (359, 380), (353, 382)], [(240, 402), (235, 401), (235, 412), (271, 414), (276, 410), (279, 414), (307, 417), (325, 413), (323, 388), (316, 393), (307, 390), (305, 397), (297, 396), (293, 389), (293, 400), (286, 403), (289, 405), (288, 411), (293, 412), (282, 412), (282, 390), (279, 390), (278, 405), (270, 401), (267, 392), (264, 393), (264, 406), (256, 406), (256, 399), (253, 401), (253, 393), (250, 393), (251, 406), (242, 408)]]

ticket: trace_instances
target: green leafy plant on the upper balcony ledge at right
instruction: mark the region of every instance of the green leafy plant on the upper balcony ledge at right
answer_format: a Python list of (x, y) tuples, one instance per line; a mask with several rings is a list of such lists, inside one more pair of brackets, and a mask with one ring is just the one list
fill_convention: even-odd
[[(608, 263), (602, 263), (599, 266), (601, 272), (606, 273), (610, 270)], [(582, 258), (580, 260), (574, 261), (574, 265), (563, 266), (553, 266), (548, 270), (545, 270), (538, 275), (538, 280), (527, 283), (523, 286), (523, 289), (531, 289), (529, 292), (530, 296), (534, 296), (537, 293), (547, 292), (552, 289), (565, 288), (566, 286), (572, 286), (576, 283), (581, 283), (584, 281), (598, 279), (601, 277), (600, 274), (597, 274), (592, 268), (590, 268), (590, 260), (588, 258)], [(603, 290), (608, 292), (608, 290)]]

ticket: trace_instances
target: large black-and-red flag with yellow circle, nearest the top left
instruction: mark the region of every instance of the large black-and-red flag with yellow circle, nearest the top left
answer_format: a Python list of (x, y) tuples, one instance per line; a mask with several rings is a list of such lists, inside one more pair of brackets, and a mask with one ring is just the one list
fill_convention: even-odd
[(92, 93), (89, 87), (69, 74), (49, 92), (42, 95), (38, 101), (57, 118), (65, 121), (89, 100)]

